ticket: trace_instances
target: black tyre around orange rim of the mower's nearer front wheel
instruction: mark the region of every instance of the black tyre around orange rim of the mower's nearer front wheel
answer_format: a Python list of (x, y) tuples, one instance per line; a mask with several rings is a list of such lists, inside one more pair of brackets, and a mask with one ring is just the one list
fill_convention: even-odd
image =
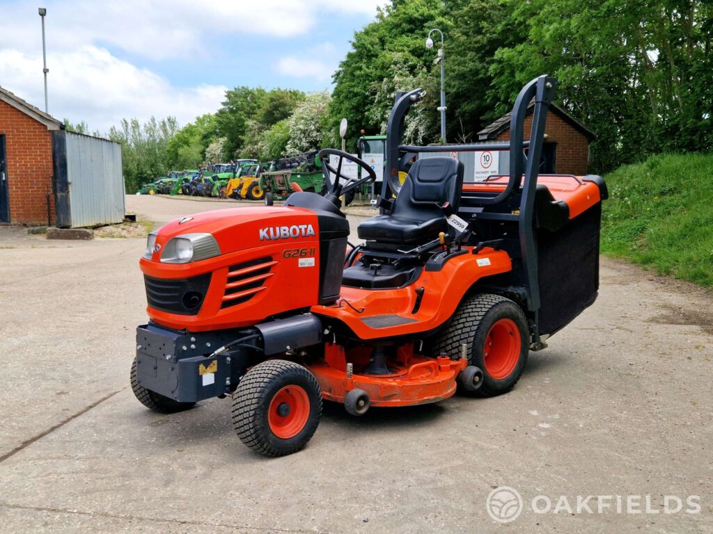
[[(270, 430), (267, 412), (275, 392), (297, 385), (310, 397), (309, 417), (299, 433), (280, 439)], [(232, 426), (240, 441), (265, 456), (285, 456), (303, 449), (322, 417), (322, 390), (311, 372), (287, 360), (267, 360), (240, 380), (232, 400)]]

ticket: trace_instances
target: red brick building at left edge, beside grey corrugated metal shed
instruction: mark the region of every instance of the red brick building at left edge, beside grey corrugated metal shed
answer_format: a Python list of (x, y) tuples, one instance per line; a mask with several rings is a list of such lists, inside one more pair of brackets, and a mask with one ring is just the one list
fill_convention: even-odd
[(61, 127), (0, 87), (0, 222), (54, 222), (51, 132)]

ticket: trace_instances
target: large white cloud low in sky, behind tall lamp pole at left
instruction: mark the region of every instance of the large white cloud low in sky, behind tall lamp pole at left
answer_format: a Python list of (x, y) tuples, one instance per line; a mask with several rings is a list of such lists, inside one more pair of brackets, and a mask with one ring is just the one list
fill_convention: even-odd
[[(0, 85), (43, 108), (42, 58), (18, 51), (0, 53)], [(62, 120), (86, 120), (106, 132), (123, 117), (145, 120), (175, 116), (186, 124), (220, 108), (225, 86), (176, 88), (150, 70), (121, 61), (106, 49), (83, 46), (56, 56), (49, 77), (49, 112)]]

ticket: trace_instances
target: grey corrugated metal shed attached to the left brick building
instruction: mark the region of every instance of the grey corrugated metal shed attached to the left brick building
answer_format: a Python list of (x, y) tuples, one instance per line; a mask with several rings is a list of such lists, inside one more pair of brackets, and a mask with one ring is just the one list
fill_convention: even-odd
[(113, 224), (124, 218), (121, 145), (60, 130), (52, 134), (57, 226)]

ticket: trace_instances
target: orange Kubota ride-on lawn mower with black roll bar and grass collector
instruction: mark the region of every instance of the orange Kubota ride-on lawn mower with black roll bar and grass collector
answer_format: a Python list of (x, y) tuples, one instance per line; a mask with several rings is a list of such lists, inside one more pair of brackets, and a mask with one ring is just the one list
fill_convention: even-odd
[[(339, 197), (374, 171), (339, 150), (324, 164), (329, 192), (295, 192), (283, 206), (210, 211), (150, 234), (140, 261), (148, 325), (138, 327), (133, 392), (156, 412), (232, 397), (240, 439), (267, 456), (307, 444), (322, 399), (369, 407), (438, 402), (456, 386), (480, 397), (513, 388), (529, 350), (597, 296), (600, 177), (538, 177), (555, 80), (525, 85), (511, 141), (448, 145), (509, 150), (509, 175), (463, 184), (463, 164), (424, 155), (403, 185), (399, 162), (442, 146), (400, 145), (388, 122), (381, 214), (349, 248)], [(530, 139), (523, 123), (535, 103)], [(359, 179), (341, 174), (348, 159)], [(400, 190), (399, 190), (400, 189)], [(394, 194), (397, 194), (394, 199)]]

